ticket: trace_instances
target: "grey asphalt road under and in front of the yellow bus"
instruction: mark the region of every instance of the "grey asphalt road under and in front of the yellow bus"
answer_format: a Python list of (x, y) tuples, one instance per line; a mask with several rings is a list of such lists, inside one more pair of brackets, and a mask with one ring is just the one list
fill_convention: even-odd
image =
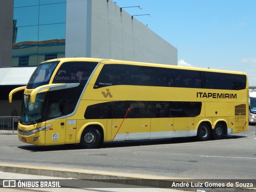
[(195, 138), (109, 142), (99, 149), (79, 145), (34, 146), (0, 135), (0, 164), (49, 166), (195, 179), (256, 178), (255, 126), (222, 140)]

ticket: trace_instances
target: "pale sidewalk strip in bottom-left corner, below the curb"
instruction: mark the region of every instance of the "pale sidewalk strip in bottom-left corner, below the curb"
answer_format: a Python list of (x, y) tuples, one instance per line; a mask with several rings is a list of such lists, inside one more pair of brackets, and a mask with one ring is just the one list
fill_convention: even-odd
[[(36, 188), (4, 188), (5, 192), (31, 192), (31, 189), (35, 189), (35, 191), (40, 192), (184, 192), (181, 190), (175, 189), (164, 189), (164, 188), (150, 188), (150, 187), (143, 187), (143, 186), (134, 186), (134, 185), (126, 185), (126, 184), (114, 184), (114, 183), (106, 183), (106, 182), (98, 182), (98, 181), (88, 181), (82, 180), (83, 187), (79, 186), (79, 181), (81, 184), (81, 180), (75, 180), (72, 178), (65, 179), (60, 177), (50, 177), (50, 176), (35, 176), (30, 174), (18, 174), (18, 173), (9, 173), (9, 172), (1, 172), (0, 171), (0, 178), (4, 178), (5, 184), (8, 184), (10, 181), (13, 184), (13, 181), (16, 180), (16, 187), (18, 186), (18, 182), (24, 181), (28, 182), (38, 182), (38, 187)], [(21, 179), (22, 178), (22, 179)], [(56, 188), (41, 188), (41, 182), (58, 182), (60, 187)], [(71, 184), (71, 185), (69, 185)], [(76, 187), (70, 187), (70, 186)], [(0, 189), (1, 189), (1, 181), (0, 181)], [(34, 190), (33, 190), (34, 191)]]

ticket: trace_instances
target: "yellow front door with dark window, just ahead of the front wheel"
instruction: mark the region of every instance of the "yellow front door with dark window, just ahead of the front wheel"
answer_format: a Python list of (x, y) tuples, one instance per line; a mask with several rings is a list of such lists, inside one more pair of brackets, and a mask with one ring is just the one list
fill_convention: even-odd
[(66, 137), (66, 102), (49, 99), (46, 111), (45, 145), (65, 144)]

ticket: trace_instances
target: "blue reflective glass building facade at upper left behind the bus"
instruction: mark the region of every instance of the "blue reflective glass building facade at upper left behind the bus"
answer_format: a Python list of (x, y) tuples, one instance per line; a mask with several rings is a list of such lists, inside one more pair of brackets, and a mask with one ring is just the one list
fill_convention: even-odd
[(65, 57), (66, 0), (14, 0), (12, 66)]

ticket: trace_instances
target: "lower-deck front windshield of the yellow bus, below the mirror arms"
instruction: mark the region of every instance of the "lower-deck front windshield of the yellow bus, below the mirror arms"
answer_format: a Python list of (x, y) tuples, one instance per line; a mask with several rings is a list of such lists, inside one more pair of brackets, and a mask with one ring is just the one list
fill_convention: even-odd
[(30, 102), (30, 95), (24, 95), (22, 100), (22, 112), (20, 115), (20, 122), (22, 124), (34, 124), (42, 119), (42, 112), (44, 106), (44, 98), (46, 92), (36, 95), (36, 101)]

